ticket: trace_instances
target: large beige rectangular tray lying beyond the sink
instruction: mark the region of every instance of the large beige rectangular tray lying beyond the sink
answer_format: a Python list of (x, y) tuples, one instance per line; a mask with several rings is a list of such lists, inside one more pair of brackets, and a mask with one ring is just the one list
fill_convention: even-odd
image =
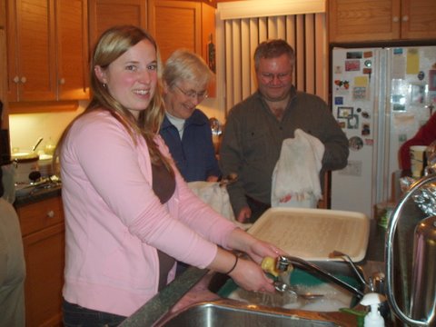
[(364, 213), (327, 209), (271, 208), (248, 230), (257, 238), (307, 261), (343, 260), (329, 253), (348, 254), (360, 262), (366, 254), (370, 220)]

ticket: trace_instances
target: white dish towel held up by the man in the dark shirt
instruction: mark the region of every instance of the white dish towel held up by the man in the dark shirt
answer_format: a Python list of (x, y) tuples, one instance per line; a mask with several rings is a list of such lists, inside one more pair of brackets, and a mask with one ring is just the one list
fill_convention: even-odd
[(272, 207), (315, 208), (322, 198), (320, 171), (325, 147), (316, 137), (295, 130), (283, 140), (272, 172)]

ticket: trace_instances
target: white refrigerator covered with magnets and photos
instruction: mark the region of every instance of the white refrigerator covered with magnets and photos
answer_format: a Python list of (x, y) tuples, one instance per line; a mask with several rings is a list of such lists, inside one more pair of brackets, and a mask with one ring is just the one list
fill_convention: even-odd
[(436, 106), (436, 45), (333, 47), (331, 64), (332, 114), (350, 148), (332, 172), (331, 207), (374, 218), (397, 200), (401, 144)]

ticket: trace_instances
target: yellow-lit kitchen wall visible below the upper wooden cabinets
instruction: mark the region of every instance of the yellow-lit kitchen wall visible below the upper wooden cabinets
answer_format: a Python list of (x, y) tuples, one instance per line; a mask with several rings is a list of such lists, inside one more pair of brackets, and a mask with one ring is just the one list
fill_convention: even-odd
[[(208, 98), (199, 107), (208, 117), (215, 117), (220, 122), (224, 121), (224, 113), (217, 109), (216, 98)], [(82, 101), (75, 111), (61, 111), (59, 113), (38, 114), (10, 114), (9, 133), (11, 137), (11, 150), (30, 150), (39, 137), (43, 142), (38, 146), (39, 151), (44, 150), (45, 144), (56, 144), (64, 128), (74, 119), (77, 114), (84, 111), (87, 102)]]

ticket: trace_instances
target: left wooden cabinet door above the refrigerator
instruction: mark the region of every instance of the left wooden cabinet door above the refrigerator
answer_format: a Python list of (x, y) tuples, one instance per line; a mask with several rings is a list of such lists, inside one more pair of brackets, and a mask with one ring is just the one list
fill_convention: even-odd
[(400, 16), (400, 0), (329, 1), (330, 42), (398, 39)]

